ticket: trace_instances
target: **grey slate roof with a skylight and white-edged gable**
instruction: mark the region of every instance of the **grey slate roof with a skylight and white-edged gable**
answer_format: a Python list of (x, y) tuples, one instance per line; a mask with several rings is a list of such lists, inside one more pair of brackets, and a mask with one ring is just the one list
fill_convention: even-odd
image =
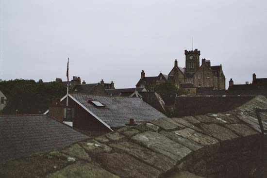
[[(129, 123), (130, 118), (134, 118), (135, 123), (141, 123), (166, 117), (166, 115), (137, 97), (113, 97), (77, 93), (71, 93), (70, 96), (78, 100), (84, 107), (112, 128), (125, 126), (126, 123)], [(89, 103), (88, 100), (99, 101), (105, 107), (96, 107)]]

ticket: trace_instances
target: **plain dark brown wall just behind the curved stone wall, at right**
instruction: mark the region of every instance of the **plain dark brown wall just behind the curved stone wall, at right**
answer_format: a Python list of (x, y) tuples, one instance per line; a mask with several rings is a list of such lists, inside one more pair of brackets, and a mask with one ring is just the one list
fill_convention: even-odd
[(225, 112), (252, 98), (252, 96), (180, 96), (175, 99), (173, 116)]

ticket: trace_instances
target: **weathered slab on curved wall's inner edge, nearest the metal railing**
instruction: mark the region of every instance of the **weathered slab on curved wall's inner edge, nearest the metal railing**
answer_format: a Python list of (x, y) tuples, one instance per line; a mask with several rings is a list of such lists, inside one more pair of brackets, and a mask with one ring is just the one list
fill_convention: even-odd
[(242, 137), (259, 134), (259, 132), (256, 132), (254, 129), (251, 129), (249, 126), (244, 124), (230, 124), (225, 127)]

